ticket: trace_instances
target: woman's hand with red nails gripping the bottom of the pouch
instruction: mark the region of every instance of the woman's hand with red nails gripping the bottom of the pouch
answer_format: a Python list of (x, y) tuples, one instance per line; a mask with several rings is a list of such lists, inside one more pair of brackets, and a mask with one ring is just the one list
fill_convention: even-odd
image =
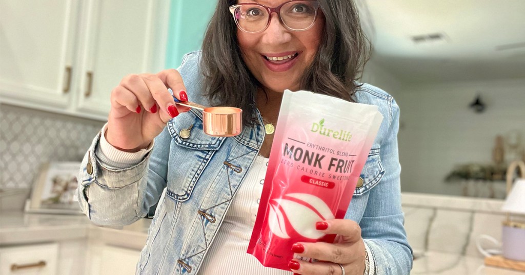
[[(361, 238), (361, 227), (349, 219), (332, 219), (316, 223), (316, 228), (325, 234), (337, 234), (333, 244), (296, 243), (292, 251), (296, 256), (317, 259), (317, 262), (298, 260), (289, 263), (297, 274), (343, 274), (362, 275), (365, 268), (365, 247)], [(341, 264), (338, 265), (338, 264)]]

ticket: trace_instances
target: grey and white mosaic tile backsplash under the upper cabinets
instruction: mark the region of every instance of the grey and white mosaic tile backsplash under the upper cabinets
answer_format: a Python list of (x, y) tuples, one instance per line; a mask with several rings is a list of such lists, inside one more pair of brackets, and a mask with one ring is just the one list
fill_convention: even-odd
[(1, 104), (0, 189), (31, 188), (44, 162), (81, 161), (103, 125)]

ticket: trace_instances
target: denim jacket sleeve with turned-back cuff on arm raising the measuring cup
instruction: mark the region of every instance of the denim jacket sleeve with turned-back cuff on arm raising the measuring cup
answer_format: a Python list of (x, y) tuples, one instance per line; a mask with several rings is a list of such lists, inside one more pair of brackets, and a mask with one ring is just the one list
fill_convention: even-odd
[(171, 135), (164, 128), (144, 159), (129, 168), (100, 160), (100, 133), (82, 160), (78, 198), (82, 212), (97, 225), (123, 226), (146, 216), (166, 187)]

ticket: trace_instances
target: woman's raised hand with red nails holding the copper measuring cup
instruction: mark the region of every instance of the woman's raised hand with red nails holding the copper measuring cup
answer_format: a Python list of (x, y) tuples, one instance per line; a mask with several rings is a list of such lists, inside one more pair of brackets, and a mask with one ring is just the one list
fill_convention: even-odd
[(189, 109), (175, 105), (168, 88), (179, 100), (188, 100), (177, 70), (125, 76), (111, 92), (106, 140), (123, 151), (148, 147), (168, 120)]

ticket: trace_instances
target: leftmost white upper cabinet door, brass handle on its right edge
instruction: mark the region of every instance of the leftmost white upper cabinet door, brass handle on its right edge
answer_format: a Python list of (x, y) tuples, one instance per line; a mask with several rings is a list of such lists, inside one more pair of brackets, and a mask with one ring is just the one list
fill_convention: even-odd
[(67, 106), (77, 18), (74, 0), (0, 1), (2, 101)]

